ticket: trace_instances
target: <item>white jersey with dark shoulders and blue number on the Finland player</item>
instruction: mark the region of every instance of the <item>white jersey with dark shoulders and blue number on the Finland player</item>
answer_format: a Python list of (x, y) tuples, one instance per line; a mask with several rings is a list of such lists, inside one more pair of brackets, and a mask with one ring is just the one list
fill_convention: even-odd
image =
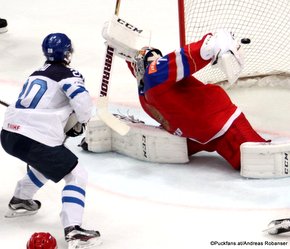
[(92, 114), (93, 102), (82, 75), (61, 63), (46, 63), (31, 74), (17, 101), (5, 113), (3, 129), (49, 146), (61, 145), (74, 111), (80, 123)]

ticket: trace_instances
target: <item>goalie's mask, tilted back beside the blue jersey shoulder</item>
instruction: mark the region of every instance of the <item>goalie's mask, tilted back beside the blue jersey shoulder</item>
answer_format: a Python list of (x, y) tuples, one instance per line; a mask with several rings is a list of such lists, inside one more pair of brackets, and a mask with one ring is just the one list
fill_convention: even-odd
[(159, 49), (156, 48), (143, 47), (138, 51), (133, 61), (134, 73), (138, 84), (140, 84), (142, 81), (145, 70), (150, 65), (150, 63), (159, 59), (160, 57), (162, 57), (162, 53)]

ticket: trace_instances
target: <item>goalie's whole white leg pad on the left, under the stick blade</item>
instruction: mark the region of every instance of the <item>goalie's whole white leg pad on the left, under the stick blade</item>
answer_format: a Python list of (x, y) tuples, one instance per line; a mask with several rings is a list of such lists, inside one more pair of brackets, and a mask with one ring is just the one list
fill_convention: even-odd
[[(124, 120), (123, 120), (124, 121)], [(87, 128), (85, 140), (92, 152), (115, 151), (142, 161), (186, 163), (189, 161), (185, 138), (174, 136), (156, 126), (126, 121), (130, 131), (122, 136), (95, 117)]]

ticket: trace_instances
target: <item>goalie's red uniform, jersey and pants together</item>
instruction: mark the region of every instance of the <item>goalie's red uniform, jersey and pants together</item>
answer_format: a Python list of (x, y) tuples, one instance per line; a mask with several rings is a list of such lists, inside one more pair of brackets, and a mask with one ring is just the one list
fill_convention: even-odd
[(220, 86), (192, 76), (210, 62), (200, 55), (205, 38), (151, 62), (139, 84), (139, 99), (164, 129), (188, 138), (189, 155), (217, 151), (239, 169), (240, 145), (265, 140)]

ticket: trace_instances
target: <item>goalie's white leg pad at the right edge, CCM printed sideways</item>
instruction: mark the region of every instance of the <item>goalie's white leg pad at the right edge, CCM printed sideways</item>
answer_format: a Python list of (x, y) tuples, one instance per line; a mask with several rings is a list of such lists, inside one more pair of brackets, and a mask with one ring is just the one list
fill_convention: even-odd
[(241, 175), (248, 178), (289, 176), (290, 143), (254, 143), (241, 145)]

